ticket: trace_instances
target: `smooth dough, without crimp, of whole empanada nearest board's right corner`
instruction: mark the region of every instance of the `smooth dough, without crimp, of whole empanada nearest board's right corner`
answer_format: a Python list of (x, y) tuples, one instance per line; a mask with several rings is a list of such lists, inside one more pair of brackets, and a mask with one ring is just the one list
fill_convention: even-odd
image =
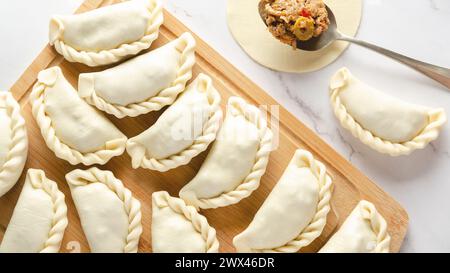
[(234, 238), (238, 252), (273, 249), (294, 240), (313, 219), (319, 190), (309, 168), (291, 163), (248, 228)]

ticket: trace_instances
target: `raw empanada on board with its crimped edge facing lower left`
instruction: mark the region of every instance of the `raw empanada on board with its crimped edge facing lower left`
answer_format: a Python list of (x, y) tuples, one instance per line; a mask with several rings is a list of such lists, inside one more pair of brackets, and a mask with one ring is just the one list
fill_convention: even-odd
[(78, 97), (59, 67), (39, 73), (30, 102), (47, 146), (70, 164), (105, 164), (125, 151), (127, 137)]

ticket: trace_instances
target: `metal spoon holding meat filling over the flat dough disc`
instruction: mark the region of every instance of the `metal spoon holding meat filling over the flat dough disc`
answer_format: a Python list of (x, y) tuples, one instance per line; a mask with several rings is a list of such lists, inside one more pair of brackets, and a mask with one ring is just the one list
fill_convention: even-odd
[[(263, 11), (264, 11), (264, 4), (263, 2), (259, 2), (258, 10), (259, 14), (263, 20), (263, 22), (266, 24), (266, 20), (264, 20), (263, 17)], [(421, 62), (416, 59), (401, 55), (399, 53), (393, 52), (391, 50), (387, 50), (385, 48), (376, 46), (374, 44), (370, 44), (368, 42), (355, 39), (353, 37), (344, 35), (340, 33), (337, 29), (336, 24), (336, 18), (333, 14), (333, 12), (330, 10), (328, 6), (326, 6), (328, 11), (328, 18), (330, 19), (330, 25), (328, 26), (328, 30), (324, 33), (322, 33), (318, 37), (314, 37), (308, 41), (299, 41), (297, 40), (297, 48), (301, 50), (306, 51), (316, 51), (320, 50), (324, 47), (327, 47), (331, 43), (333, 43), (336, 40), (340, 41), (346, 41), (351, 42), (354, 44), (358, 44), (360, 46), (369, 48), (373, 51), (376, 51), (378, 53), (381, 53), (387, 57), (390, 57), (398, 62), (401, 62), (423, 74), (426, 76), (436, 80), (437, 82), (441, 83), (445, 87), (450, 89), (450, 69), (445, 67), (440, 67), (436, 65), (432, 65), (429, 63)]]

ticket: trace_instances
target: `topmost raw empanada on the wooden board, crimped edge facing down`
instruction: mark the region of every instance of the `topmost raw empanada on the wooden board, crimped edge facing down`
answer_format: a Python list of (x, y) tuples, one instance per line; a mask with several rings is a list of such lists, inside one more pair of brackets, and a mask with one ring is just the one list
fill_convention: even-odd
[(112, 64), (147, 49), (163, 23), (160, 0), (132, 0), (50, 20), (50, 44), (70, 62)]

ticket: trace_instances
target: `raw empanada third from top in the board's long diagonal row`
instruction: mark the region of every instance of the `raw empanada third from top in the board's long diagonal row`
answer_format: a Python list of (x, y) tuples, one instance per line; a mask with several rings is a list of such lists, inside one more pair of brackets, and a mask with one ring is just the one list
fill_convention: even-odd
[(220, 94), (200, 74), (152, 127), (128, 140), (133, 168), (165, 172), (189, 163), (214, 141), (221, 119)]

